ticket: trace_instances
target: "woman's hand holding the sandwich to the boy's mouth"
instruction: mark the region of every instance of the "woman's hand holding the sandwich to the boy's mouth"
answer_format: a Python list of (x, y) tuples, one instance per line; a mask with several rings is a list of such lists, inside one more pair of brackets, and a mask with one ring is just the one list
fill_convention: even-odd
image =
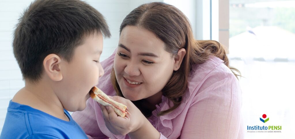
[(141, 127), (145, 127), (145, 125), (148, 123), (150, 124), (150, 122), (130, 100), (119, 96), (109, 97), (112, 98), (114, 101), (127, 106), (127, 114), (124, 118), (122, 118), (115, 113), (112, 107), (99, 104), (101, 108), (101, 113), (106, 123), (106, 127), (113, 134), (126, 135), (128, 133), (136, 133), (136, 131), (139, 131)]

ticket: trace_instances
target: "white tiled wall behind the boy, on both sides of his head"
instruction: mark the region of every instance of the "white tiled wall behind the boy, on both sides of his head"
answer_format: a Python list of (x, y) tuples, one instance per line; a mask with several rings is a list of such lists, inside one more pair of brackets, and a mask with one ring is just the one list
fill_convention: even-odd
[[(101, 61), (108, 58), (117, 47), (119, 27), (125, 16), (140, 4), (153, 1), (155, 0), (86, 0), (105, 16), (112, 34), (112, 38), (104, 39)], [(0, 0), (0, 133), (9, 100), (24, 87), (22, 74), (12, 52), (12, 34), (17, 19), (31, 2), (32, 0)], [(165, 2), (169, 3), (169, 0)]]

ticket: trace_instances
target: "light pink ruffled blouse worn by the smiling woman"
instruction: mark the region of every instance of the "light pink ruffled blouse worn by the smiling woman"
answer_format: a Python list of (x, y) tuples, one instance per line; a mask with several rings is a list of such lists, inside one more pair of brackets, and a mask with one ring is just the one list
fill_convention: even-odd
[[(116, 95), (110, 78), (115, 54), (101, 62), (105, 73), (99, 79), (98, 87), (109, 96)], [(159, 111), (169, 108), (168, 103), (162, 96), (162, 102), (148, 118), (161, 133), (160, 138), (244, 138), (240, 85), (217, 57), (210, 56), (205, 63), (196, 64), (181, 105), (173, 112), (157, 117)], [(101, 109), (91, 98), (85, 110), (74, 112), (72, 117), (89, 138), (129, 138), (128, 134), (114, 135), (106, 128)]]

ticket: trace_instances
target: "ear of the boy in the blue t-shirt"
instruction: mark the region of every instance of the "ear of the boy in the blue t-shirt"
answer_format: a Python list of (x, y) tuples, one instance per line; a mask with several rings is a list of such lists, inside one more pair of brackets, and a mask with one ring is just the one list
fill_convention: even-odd
[(60, 81), (63, 79), (63, 75), (60, 71), (61, 58), (56, 54), (49, 54), (44, 58), (43, 66), (45, 73), (53, 81)]

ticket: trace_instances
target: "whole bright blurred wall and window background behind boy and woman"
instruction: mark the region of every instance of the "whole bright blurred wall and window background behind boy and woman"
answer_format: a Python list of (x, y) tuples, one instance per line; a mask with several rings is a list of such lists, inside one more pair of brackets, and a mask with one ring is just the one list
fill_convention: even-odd
[[(245, 138), (294, 138), (295, 0), (161, 0), (180, 9), (198, 40), (216, 40), (227, 48), (230, 66), (242, 73)], [(9, 100), (24, 87), (12, 52), (19, 16), (32, 0), (0, 0), (0, 132)], [(109, 24), (101, 61), (117, 48), (119, 26), (140, 4), (151, 0), (86, 0)], [(260, 122), (263, 114), (267, 123)], [(282, 133), (247, 133), (247, 125), (279, 125)]]

